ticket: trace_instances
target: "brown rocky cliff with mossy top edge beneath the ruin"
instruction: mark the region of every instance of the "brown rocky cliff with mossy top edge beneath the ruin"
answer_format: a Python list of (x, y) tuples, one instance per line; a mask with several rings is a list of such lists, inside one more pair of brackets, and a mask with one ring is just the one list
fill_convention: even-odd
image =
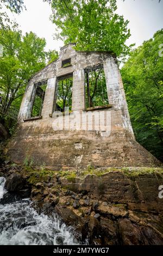
[(163, 245), (161, 168), (53, 172), (3, 164), (0, 172), (13, 196), (30, 196), (46, 214), (58, 212), (89, 244)]

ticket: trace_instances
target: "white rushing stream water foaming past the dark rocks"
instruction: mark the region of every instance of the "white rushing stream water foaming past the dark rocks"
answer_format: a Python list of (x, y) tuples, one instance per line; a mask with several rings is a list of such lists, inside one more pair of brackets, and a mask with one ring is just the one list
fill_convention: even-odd
[[(0, 177), (0, 199), (5, 179)], [(78, 245), (73, 230), (54, 214), (39, 215), (30, 200), (11, 204), (0, 201), (0, 245)]]

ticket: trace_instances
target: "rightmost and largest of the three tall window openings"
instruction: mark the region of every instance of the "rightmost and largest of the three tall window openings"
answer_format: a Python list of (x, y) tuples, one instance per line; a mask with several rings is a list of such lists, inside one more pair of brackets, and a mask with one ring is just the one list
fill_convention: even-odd
[(108, 105), (103, 65), (85, 69), (85, 107)]

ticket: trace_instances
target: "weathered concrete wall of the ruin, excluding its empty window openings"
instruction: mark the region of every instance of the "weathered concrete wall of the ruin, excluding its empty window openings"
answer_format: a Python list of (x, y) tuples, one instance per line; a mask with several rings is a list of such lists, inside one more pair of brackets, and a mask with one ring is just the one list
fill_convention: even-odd
[[(67, 58), (71, 58), (72, 65), (61, 68), (62, 60)], [(86, 112), (84, 111), (84, 69), (99, 64), (104, 66), (111, 108)], [(77, 117), (82, 120), (82, 123), (71, 127), (71, 130), (62, 130), (57, 129), (57, 117), (54, 118), (53, 115), (51, 118), (49, 114), (53, 111), (57, 77), (67, 74), (73, 74), (73, 113), (70, 117), (71, 120)], [(47, 81), (42, 119), (24, 121), (30, 117), (34, 83), (40, 81)], [(96, 117), (92, 118), (91, 113), (96, 114)], [(82, 118), (81, 114), (83, 114)], [(98, 114), (103, 114), (105, 119), (105, 125), (100, 131)], [(64, 116), (64, 122), (67, 117), (67, 115)], [(88, 165), (120, 167), (160, 164), (135, 141), (120, 71), (116, 59), (108, 52), (76, 52), (71, 44), (62, 47), (59, 59), (37, 72), (29, 81), (18, 120), (21, 124), (18, 127), (17, 136), (12, 139), (9, 146), (9, 155), (16, 162), (23, 162), (28, 156), (29, 159), (33, 157), (36, 165), (45, 163), (52, 169), (83, 168)], [(92, 130), (90, 130), (92, 123)], [(84, 129), (82, 125), (85, 125)]]

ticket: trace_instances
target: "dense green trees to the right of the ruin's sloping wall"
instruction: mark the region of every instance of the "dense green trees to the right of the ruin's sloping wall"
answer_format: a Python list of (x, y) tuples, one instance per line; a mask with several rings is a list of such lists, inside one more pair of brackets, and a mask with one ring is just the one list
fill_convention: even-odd
[(121, 74), (138, 142), (163, 160), (163, 29), (131, 52)]

